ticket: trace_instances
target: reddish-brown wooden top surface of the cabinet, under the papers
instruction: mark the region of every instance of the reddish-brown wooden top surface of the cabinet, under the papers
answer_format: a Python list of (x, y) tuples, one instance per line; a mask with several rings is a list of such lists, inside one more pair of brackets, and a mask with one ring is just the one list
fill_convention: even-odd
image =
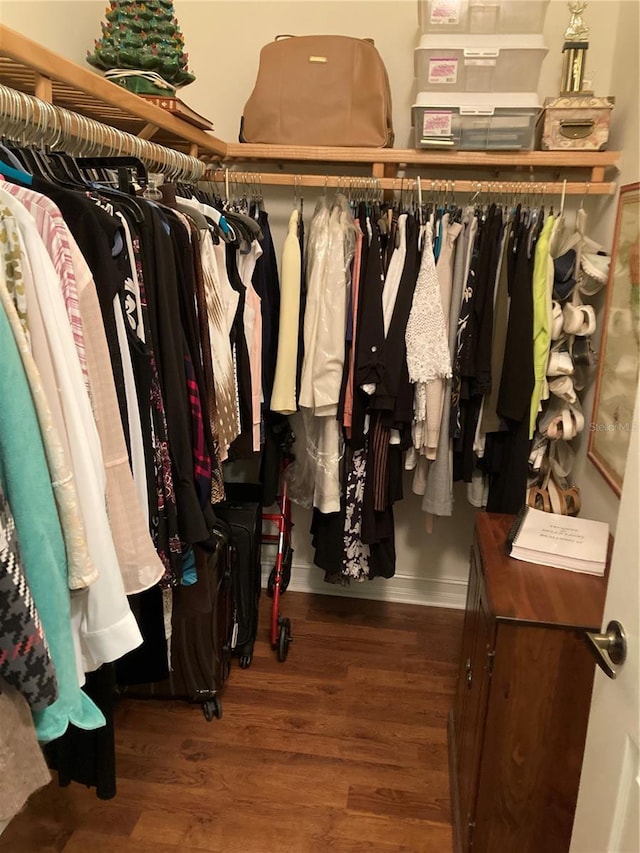
[(599, 630), (612, 540), (605, 577), (569, 572), (507, 556), (505, 542), (513, 521), (512, 515), (476, 515), (486, 594), (496, 619)]

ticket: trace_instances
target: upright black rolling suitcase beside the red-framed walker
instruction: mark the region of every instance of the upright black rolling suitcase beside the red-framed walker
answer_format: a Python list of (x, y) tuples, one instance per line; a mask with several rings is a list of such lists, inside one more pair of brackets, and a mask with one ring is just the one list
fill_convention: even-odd
[[(233, 490), (230, 497), (233, 495)], [(262, 567), (262, 505), (231, 499), (214, 507), (216, 516), (231, 528), (233, 551), (233, 607), (235, 642), (232, 654), (246, 669), (251, 664), (258, 631)]]

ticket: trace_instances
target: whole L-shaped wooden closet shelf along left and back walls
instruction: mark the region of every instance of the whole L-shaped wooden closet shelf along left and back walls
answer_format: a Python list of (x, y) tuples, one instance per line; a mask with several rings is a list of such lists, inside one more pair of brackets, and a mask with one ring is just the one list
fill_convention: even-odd
[[(567, 192), (586, 189), (601, 195), (615, 191), (606, 175), (620, 158), (617, 151), (422, 151), (227, 143), (4, 25), (0, 25), (0, 83), (217, 165), (270, 163), (278, 169), (286, 166), (289, 174), (295, 163), (334, 163), (368, 166), (370, 174), (381, 181), (391, 181), (398, 169), (407, 168), (424, 170), (421, 177), (427, 181), (455, 177), (506, 184), (535, 175), (540, 183), (558, 183), (566, 177)], [(470, 174), (470, 169), (475, 172)], [(307, 181), (310, 178), (313, 176), (305, 176)], [(324, 176), (317, 180), (325, 182)], [(268, 182), (265, 175), (263, 183)]]

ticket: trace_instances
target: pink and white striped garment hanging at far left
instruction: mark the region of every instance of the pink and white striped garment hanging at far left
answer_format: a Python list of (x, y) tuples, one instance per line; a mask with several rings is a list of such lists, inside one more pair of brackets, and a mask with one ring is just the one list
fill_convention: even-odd
[(0, 181), (2, 182), (3, 189), (15, 196), (35, 219), (38, 233), (42, 237), (60, 279), (64, 304), (73, 333), (73, 342), (78, 353), (78, 361), (82, 369), (84, 384), (87, 387), (87, 391), (89, 391), (89, 372), (87, 370), (87, 358), (84, 346), (84, 329), (66, 223), (51, 199), (40, 193), (33, 192), (33, 190), (12, 184), (6, 181), (1, 175)]

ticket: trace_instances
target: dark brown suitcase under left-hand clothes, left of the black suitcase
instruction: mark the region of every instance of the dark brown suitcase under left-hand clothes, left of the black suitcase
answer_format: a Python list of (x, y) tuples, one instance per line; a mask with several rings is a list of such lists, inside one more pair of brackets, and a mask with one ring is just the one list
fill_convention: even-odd
[(221, 520), (209, 543), (194, 547), (197, 581), (173, 590), (171, 661), (167, 678), (121, 686), (128, 696), (186, 699), (199, 703), (207, 720), (222, 716), (220, 691), (231, 667), (233, 546)]

